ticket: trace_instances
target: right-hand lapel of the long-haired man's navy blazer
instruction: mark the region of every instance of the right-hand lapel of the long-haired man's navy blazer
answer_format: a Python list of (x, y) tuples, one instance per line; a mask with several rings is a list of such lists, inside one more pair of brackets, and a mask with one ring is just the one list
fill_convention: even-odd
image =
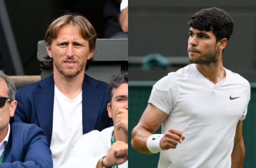
[(82, 92), (83, 134), (95, 129), (103, 95), (104, 91), (89, 86), (84, 80)]

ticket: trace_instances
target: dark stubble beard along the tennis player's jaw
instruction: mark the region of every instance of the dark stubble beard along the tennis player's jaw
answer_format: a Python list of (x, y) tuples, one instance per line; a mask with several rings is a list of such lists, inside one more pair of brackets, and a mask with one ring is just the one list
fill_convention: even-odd
[(193, 64), (201, 64), (206, 66), (215, 65), (218, 62), (216, 46), (198, 58), (189, 58), (189, 61)]

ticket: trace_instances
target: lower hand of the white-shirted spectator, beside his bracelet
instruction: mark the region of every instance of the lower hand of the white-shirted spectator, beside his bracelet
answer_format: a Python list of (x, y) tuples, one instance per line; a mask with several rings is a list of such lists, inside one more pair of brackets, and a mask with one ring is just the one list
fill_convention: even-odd
[(128, 144), (123, 141), (116, 141), (110, 147), (108, 154), (103, 158), (103, 164), (106, 168), (112, 168), (114, 165), (121, 165), (128, 160)]

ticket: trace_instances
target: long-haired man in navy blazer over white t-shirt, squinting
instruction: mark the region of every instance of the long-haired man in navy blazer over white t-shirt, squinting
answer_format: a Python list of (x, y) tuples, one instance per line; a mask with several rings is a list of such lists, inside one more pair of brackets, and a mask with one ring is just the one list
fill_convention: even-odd
[(96, 50), (92, 24), (78, 14), (61, 16), (48, 27), (45, 43), (45, 64), (53, 74), (17, 90), (15, 115), (45, 131), (59, 168), (83, 134), (110, 127), (113, 120), (106, 110), (109, 85), (85, 74)]

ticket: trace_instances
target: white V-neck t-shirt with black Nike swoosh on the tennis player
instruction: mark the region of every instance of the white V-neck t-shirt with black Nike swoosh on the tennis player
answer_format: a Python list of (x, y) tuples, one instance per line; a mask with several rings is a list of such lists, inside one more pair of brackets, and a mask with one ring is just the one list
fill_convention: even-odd
[(171, 72), (154, 86), (149, 103), (168, 114), (162, 133), (180, 129), (185, 136), (176, 149), (160, 152), (158, 168), (230, 168), (236, 125), (244, 120), (250, 84), (226, 70), (217, 84), (190, 64)]

